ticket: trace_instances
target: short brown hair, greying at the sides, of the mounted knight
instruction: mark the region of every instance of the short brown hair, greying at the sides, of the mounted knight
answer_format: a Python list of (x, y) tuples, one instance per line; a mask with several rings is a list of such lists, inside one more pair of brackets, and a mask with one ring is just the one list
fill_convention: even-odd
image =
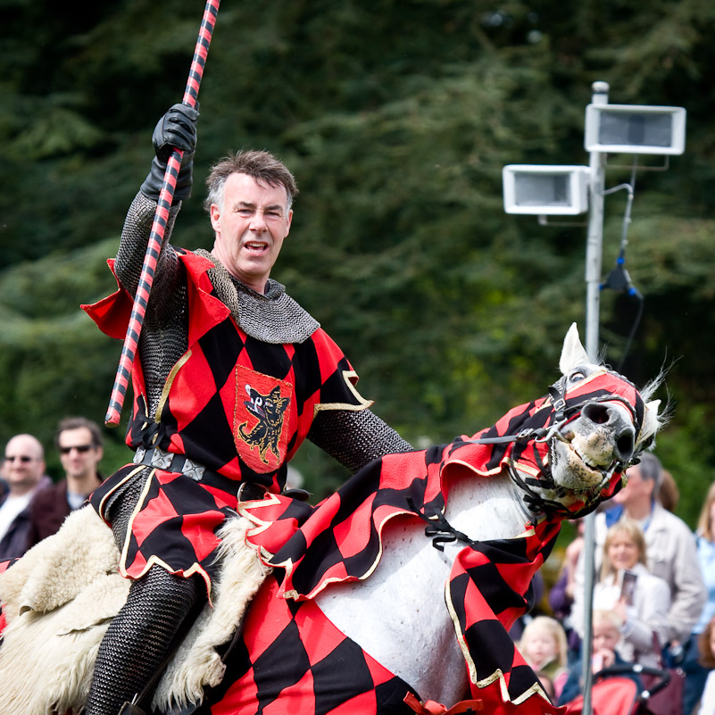
[(259, 184), (284, 187), (288, 197), (286, 210), (290, 209), (294, 196), (298, 195), (293, 174), (273, 154), (254, 150), (240, 151), (224, 156), (220, 162), (212, 166), (206, 179), (209, 191), (204, 200), (204, 208), (207, 212), (211, 212), (211, 204), (222, 205), (223, 188), (231, 174), (247, 174)]

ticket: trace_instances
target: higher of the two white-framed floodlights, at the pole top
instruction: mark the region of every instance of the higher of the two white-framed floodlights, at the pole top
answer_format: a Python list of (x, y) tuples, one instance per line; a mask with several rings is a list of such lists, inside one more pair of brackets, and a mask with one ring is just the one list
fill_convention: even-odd
[(635, 104), (589, 104), (584, 145), (587, 152), (683, 154), (686, 110)]

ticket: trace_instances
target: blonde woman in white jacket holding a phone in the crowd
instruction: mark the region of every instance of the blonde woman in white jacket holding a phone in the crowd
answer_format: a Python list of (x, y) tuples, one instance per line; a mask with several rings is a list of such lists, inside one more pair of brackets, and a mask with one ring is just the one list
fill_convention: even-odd
[[(620, 520), (606, 535), (603, 561), (594, 584), (594, 609), (615, 611), (621, 619), (616, 646), (624, 661), (655, 666), (658, 647), (668, 639), (670, 589), (668, 583), (646, 567), (645, 539), (636, 521)], [(583, 596), (576, 594), (574, 627), (583, 637)]]

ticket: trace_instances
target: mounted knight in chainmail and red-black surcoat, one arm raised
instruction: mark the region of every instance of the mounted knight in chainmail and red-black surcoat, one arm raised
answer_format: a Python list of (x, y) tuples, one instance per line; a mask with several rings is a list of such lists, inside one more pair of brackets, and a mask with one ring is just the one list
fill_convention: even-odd
[(100, 646), (86, 715), (116, 715), (151, 682), (181, 624), (211, 600), (215, 530), (239, 502), (283, 489), (305, 437), (351, 472), (412, 449), (371, 412), (320, 324), (270, 279), (298, 192), (283, 163), (258, 151), (218, 162), (204, 203), (212, 252), (170, 245), (191, 191), (197, 117), (176, 104), (156, 125), (152, 169), (110, 262), (119, 290), (83, 306), (106, 334), (124, 336), (166, 162), (181, 149), (132, 374), (135, 457), (91, 497), (131, 586)]

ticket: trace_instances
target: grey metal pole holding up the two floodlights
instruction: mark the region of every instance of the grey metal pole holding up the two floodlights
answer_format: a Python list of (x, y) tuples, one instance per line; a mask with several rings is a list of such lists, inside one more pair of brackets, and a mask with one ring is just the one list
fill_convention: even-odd
[[(608, 83), (594, 82), (593, 104), (608, 104)], [(601, 307), (601, 264), (603, 254), (603, 190), (606, 154), (589, 153), (588, 237), (586, 239), (586, 353), (598, 362), (598, 323)], [(584, 638), (581, 644), (581, 668), (584, 681), (583, 715), (591, 715), (591, 610), (594, 601), (595, 514), (586, 516), (584, 531)]]

